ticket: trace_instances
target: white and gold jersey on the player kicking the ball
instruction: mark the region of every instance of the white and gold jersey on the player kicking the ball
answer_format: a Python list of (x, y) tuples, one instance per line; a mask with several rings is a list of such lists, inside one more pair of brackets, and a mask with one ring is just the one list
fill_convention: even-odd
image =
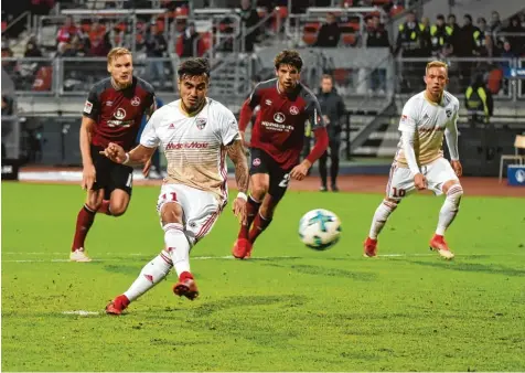
[(224, 105), (206, 98), (201, 111), (188, 116), (178, 99), (153, 113), (140, 143), (164, 148), (168, 160), (164, 183), (213, 192), (226, 201), (226, 146), (237, 139), (240, 139), (237, 120)]

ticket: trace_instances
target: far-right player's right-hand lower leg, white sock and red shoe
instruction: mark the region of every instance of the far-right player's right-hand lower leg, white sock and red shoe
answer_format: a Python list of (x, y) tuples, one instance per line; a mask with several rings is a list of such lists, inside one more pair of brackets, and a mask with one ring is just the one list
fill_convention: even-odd
[(446, 259), (452, 259), (454, 254), (444, 242), (444, 232), (452, 224), (459, 211), (463, 188), (458, 180), (449, 180), (443, 184), (442, 191), (446, 195), (441, 211), (439, 212), (438, 227), (432, 239), (430, 249), (438, 252)]

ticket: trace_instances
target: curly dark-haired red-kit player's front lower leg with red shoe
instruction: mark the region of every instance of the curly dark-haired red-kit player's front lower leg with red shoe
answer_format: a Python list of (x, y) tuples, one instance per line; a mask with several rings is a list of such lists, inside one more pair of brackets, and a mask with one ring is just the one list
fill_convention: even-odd
[(251, 224), (259, 214), (260, 205), (268, 193), (270, 184), (270, 177), (267, 173), (255, 173), (250, 177), (251, 191), (248, 196), (247, 207), (247, 221), (246, 225), (240, 226), (237, 241), (234, 244), (233, 255), (238, 259), (249, 257), (251, 253), (251, 242), (249, 239), (249, 232)]

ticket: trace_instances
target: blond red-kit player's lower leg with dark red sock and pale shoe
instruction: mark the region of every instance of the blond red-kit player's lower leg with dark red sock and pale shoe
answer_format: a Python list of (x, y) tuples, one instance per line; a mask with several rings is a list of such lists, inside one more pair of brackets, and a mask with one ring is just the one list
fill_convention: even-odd
[(69, 259), (72, 262), (90, 262), (85, 253), (85, 241), (89, 228), (95, 220), (95, 214), (99, 209), (104, 198), (104, 190), (88, 190), (86, 202), (76, 217), (76, 230), (71, 247)]

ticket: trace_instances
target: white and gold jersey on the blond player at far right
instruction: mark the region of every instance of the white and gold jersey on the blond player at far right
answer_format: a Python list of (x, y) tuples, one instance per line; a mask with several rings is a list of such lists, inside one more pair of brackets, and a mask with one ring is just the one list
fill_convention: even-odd
[[(399, 121), (400, 131), (415, 132), (414, 151), (418, 166), (431, 163), (443, 157), (443, 135), (447, 129), (456, 131), (459, 100), (447, 90), (440, 104), (426, 98), (425, 90), (410, 97), (403, 108)], [(403, 138), (397, 146), (396, 161), (408, 167), (403, 150)]]

